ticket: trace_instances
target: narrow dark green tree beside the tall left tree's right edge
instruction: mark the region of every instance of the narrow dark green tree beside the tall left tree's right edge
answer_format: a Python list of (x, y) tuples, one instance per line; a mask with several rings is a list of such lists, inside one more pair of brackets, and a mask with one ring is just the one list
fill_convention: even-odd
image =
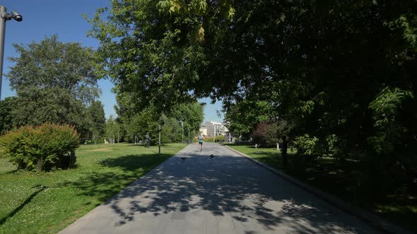
[(90, 113), (90, 131), (93, 134), (94, 143), (106, 134), (106, 118), (101, 101), (91, 102), (88, 111)]

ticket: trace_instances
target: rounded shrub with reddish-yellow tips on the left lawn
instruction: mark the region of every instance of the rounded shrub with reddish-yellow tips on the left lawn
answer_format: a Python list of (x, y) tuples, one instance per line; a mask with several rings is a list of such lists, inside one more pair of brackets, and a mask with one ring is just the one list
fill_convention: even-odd
[(78, 133), (73, 126), (44, 124), (23, 126), (0, 137), (0, 146), (18, 169), (49, 171), (75, 163)]

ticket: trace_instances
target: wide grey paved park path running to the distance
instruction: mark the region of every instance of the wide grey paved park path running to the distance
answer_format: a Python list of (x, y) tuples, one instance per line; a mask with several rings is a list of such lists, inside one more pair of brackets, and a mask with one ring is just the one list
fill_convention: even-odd
[(188, 145), (60, 233), (378, 233), (220, 144), (197, 148)]

